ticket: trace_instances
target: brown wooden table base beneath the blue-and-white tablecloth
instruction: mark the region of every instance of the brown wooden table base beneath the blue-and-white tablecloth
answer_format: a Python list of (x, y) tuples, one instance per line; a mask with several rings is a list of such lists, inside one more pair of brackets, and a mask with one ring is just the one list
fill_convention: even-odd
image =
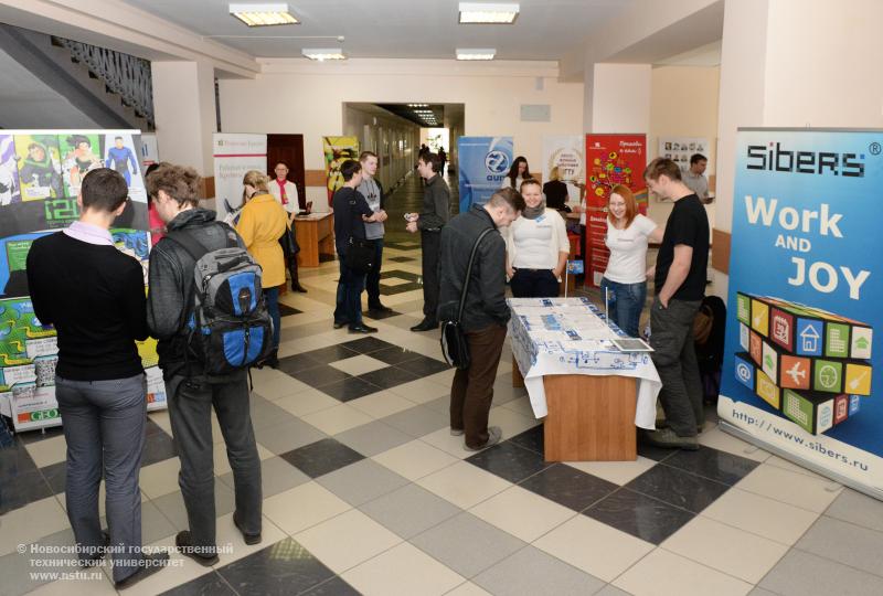
[[(545, 460), (635, 461), (635, 382), (619, 375), (545, 375)], [(514, 358), (512, 385), (524, 386)]]

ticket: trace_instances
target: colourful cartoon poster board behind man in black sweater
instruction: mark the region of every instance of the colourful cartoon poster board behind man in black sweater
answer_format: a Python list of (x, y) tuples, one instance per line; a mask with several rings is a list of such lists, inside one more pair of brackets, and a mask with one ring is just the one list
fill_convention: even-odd
[[(83, 177), (109, 167), (129, 187), (111, 228), (114, 244), (141, 263), (147, 284), (150, 238), (138, 130), (0, 131), (0, 412), (17, 430), (61, 424), (55, 402), (55, 330), (35, 316), (25, 263), (31, 244), (79, 217)], [(166, 406), (156, 342), (138, 342), (148, 374), (148, 409)], [(157, 382), (157, 379), (160, 382)]]

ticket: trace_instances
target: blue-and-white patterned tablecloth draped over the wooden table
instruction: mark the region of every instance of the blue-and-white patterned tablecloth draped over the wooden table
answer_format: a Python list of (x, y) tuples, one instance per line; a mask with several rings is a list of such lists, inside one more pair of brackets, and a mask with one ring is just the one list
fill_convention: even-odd
[(662, 382), (648, 352), (623, 352), (613, 341), (627, 337), (588, 298), (510, 298), (509, 336), (533, 413), (549, 413), (546, 374), (623, 375), (637, 379), (635, 425), (653, 429)]

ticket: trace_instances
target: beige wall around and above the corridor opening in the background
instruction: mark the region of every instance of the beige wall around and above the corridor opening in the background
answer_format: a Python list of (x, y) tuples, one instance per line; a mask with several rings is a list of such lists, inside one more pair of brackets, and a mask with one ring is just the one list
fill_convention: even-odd
[[(308, 170), (325, 167), (321, 137), (343, 131), (344, 102), (464, 104), (465, 135), (511, 135), (515, 155), (525, 156), (531, 163), (542, 159), (544, 135), (583, 129), (583, 85), (558, 83), (554, 63), (263, 62), (264, 74), (256, 79), (220, 81), (223, 130), (302, 134)], [(551, 121), (520, 121), (521, 104), (549, 104)], [(321, 188), (308, 188), (307, 194), (317, 201)]]

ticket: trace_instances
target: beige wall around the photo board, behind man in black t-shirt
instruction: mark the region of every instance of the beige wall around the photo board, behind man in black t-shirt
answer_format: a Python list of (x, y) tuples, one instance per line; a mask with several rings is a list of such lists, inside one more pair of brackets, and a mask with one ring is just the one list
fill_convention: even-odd
[[(659, 66), (652, 71), (648, 161), (658, 157), (660, 136), (706, 137), (709, 158), (716, 162), (717, 95), (721, 70), (700, 66)], [(673, 203), (650, 199), (650, 217), (662, 224)], [(715, 204), (706, 205), (714, 225)]]

